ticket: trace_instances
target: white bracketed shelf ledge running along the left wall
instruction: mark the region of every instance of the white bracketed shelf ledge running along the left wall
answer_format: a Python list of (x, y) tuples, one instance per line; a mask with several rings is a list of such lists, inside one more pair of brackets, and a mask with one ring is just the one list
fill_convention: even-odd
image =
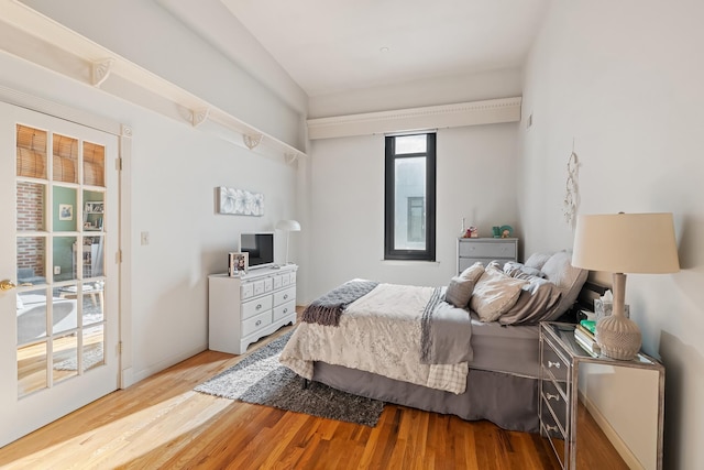
[[(0, 0), (0, 8), (3, 10), (0, 52), (99, 87), (114, 97), (242, 147), (249, 147), (244, 135), (257, 138), (258, 143), (250, 150), (256, 147), (258, 154), (277, 155), (287, 163), (287, 155), (306, 156), (302, 150), (262, 132), (21, 2)], [(207, 125), (209, 122), (217, 125)]]

